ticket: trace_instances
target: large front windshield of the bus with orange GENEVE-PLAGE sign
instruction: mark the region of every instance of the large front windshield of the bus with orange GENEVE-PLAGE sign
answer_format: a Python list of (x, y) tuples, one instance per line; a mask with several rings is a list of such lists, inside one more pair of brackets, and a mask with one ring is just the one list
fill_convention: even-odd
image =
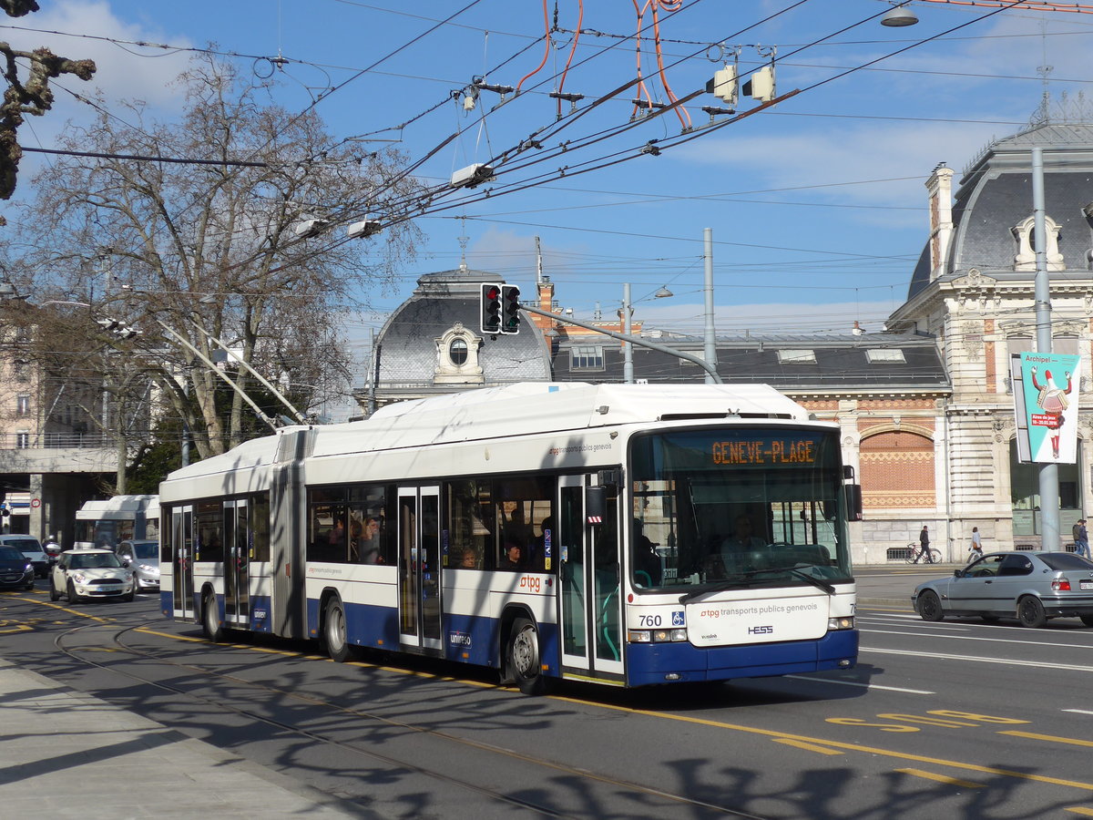
[(631, 574), (697, 591), (850, 579), (838, 436), (681, 430), (631, 443)]

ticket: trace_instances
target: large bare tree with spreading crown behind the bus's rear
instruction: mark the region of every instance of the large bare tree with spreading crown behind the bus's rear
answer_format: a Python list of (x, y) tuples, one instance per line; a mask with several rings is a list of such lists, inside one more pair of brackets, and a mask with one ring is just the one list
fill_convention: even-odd
[[(115, 159), (42, 171), (24, 236), (38, 248), (39, 304), (86, 303), (141, 330), (115, 347), (153, 374), (204, 457), (243, 441), (252, 411), (237, 393), (224, 407), (222, 380), (193, 351), (213, 359), (212, 339), (225, 341), (307, 412), (316, 385), (345, 376), (331, 317), (390, 281), (416, 238), (407, 222), (372, 239), (312, 234), (412, 199), (418, 184), (393, 152), (336, 142), (314, 110), (286, 112), (214, 58), (196, 58), (178, 83), (180, 121), (131, 103), (67, 132), (72, 150)], [(254, 389), (246, 368), (235, 375)]]

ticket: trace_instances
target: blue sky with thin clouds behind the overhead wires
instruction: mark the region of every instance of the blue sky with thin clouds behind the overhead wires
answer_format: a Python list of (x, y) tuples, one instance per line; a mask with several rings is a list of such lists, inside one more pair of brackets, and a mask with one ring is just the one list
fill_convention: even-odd
[[(563, 103), (561, 121), (549, 92), (569, 58), (577, 0), (559, 0), (564, 31), (549, 50), (539, 0), (40, 4), (37, 14), (4, 20), (0, 36), (15, 46), (91, 57), (98, 65), (94, 84), (108, 101), (146, 99), (163, 116), (177, 110), (168, 82), (186, 65), (187, 51), (178, 49), (215, 43), (238, 55), (233, 59), (245, 70), (277, 73), (290, 109), (316, 105), (330, 131), (357, 138), (362, 151), (398, 144), (416, 161), (458, 132), (422, 165), (431, 181), (546, 129), (542, 148), (498, 165), (495, 183), (449, 196), (450, 208), (437, 203), (419, 219), (426, 235), (420, 258), (399, 288), (365, 294), (374, 313), (354, 323), (357, 335), (378, 327), (421, 273), (458, 266), (460, 237), (472, 267), (532, 291), (536, 236), (557, 300), (577, 317), (592, 316), (597, 304), (612, 313), (631, 282), (635, 318), (701, 330), (705, 227), (714, 231), (719, 332), (845, 331), (856, 319), (879, 330), (903, 301), (926, 241), (924, 183), (932, 168), (945, 162), (959, 180), (990, 140), (1026, 125), (1044, 91), (1038, 68), (1051, 67), (1056, 98), (1077, 95), (1093, 79), (1091, 14), (992, 14), (915, 2), (920, 23), (889, 28), (868, 21), (889, 8), (884, 0), (682, 0), (678, 12), (661, 11), (659, 20), (666, 77), (677, 95), (704, 89), (734, 51), (747, 74), (768, 63), (772, 49), (778, 93), (801, 93), (718, 129), (695, 128), (694, 139), (681, 141), (682, 125), (671, 112), (620, 132), (632, 124), (630, 101), (637, 96), (630, 87), (609, 97), (635, 77), (634, 42), (625, 36), (634, 33), (636, 14), (625, 0), (585, 3), (586, 33), (563, 87), (585, 95), (581, 114), (573, 117)], [(554, 7), (550, 0), (550, 17)], [(650, 11), (645, 23), (651, 22)], [(929, 42), (915, 46), (919, 40)], [(643, 52), (648, 95), (665, 102), (648, 36)], [(283, 70), (269, 59), (279, 55), (289, 60)], [(453, 98), (453, 92), (483, 75), (512, 86), (529, 77), (504, 105), (483, 91), (467, 112), (465, 93)], [(61, 85), (86, 92), (72, 79)], [(724, 104), (705, 93), (686, 104), (692, 126), (709, 121), (701, 110), (708, 105)], [(742, 98), (738, 110), (756, 105)], [(58, 90), (56, 110), (31, 122), (24, 144), (50, 147), (69, 117), (86, 117), (86, 110)], [(565, 140), (572, 148), (563, 153)], [(660, 154), (638, 153), (650, 140), (663, 147)], [(22, 196), (33, 194), (30, 171), (37, 161), (26, 162)], [(653, 302), (661, 285), (675, 297)]]

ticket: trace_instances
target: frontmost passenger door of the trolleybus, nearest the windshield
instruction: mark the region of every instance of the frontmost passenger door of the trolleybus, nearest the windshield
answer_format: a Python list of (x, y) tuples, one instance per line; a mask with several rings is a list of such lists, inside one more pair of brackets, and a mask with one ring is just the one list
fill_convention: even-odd
[(618, 491), (609, 491), (602, 523), (588, 524), (586, 480), (596, 479), (563, 476), (559, 481), (562, 666), (575, 677), (622, 675)]

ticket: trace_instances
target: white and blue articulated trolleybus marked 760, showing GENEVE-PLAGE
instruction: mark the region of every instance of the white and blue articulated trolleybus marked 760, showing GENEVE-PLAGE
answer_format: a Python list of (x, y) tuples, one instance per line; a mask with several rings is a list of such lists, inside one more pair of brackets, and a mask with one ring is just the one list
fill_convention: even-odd
[(291, 426), (160, 488), (164, 614), (636, 687), (851, 667), (836, 425), (763, 385), (517, 384)]

